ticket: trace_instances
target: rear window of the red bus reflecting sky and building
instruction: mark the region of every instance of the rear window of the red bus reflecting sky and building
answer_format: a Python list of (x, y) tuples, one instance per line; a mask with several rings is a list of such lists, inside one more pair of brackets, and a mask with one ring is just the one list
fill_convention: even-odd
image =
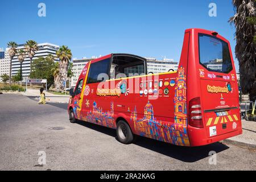
[(214, 36), (199, 34), (199, 60), (208, 71), (229, 73), (233, 69), (228, 43)]

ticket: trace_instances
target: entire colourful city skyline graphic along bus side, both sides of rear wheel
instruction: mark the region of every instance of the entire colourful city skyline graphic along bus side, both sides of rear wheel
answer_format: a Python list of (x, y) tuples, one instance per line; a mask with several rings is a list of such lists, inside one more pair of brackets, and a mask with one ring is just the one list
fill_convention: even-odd
[[(154, 107), (147, 101), (144, 106), (143, 118), (138, 118), (137, 107), (130, 111), (130, 125), (135, 133), (143, 137), (172, 143), (178, 146), (190, 146), (187, 132), (187, 86), (184, 68), (180, 67), (175, 82), (174, 118), (172, 121), (159, 121), (154, 116)], [(114, 103), (110, 102), (110, 111), (103, 111), (97, 103), (93, 102), (93, 108), (81, 115), (79, 101), (75, 101), (75, 114), (87, 122), (115, 129)], [(142, 113), (142, 111), (139, 111)]]

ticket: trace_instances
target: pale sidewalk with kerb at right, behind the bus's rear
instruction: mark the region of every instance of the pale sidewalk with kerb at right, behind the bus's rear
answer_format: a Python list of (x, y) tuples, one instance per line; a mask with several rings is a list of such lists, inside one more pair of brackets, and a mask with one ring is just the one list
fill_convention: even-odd
[(245, 121), (245, 119), (242, 119), (242, 129), (242, 135), (225, 139), (224, 143), (256, 148), (256, 122)]

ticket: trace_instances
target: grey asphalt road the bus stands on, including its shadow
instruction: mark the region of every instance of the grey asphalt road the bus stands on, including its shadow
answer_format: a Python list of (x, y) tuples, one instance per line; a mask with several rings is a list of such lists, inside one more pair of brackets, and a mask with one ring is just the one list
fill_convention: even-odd
[[(178, 147), (142, 137), (125, 145), (117, 141), (115, 130), (69, 123), (66, 107), (1, 94), (0, 170), (256, 169), (256, 151), (251, 148), (222, 143)], [(46, 152), (46, 165), (38, 165), (39, 151)], [(209, 164), (210, 151), (217, 152), (216, 165)]]

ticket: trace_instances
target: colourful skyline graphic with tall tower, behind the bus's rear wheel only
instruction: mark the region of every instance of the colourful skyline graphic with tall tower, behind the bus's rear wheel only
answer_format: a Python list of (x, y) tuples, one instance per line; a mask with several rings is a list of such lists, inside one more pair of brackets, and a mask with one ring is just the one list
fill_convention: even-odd
[(131, 112), (130, 122), (135, 131), (143, 136), (179, 146), (189, 146), (187, 133), (187, 87), (185, 85), (184, 68), (178, 70), (174, 97), (174, 123), (157, 121), (150, 101), (144, 106), (144, 117), (139, 119), (137, 108)]

